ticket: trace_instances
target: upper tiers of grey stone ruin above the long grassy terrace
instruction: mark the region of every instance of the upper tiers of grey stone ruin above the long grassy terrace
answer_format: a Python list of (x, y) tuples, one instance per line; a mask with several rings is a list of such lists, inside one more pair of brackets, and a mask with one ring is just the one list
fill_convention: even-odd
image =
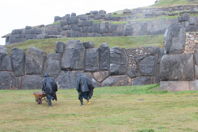
[[(197, 14), (197, 5), (174, 6), (168, 8), (138, 8), (123, 10), (123, 14), (106, 13), (104, 10), (91, 11), (86, 14), (66, 14), (56, 16), (54, 23), (36, 27), (26, 26), (15, 29), (6, 38), (6, 44), (23, 42), (29, 39), (58, 37), (98, 37), (98, 36), (133, 36), (164, 34), (166, 28), (183, 22), (188, 30), (197, 30), (198, 17), (182, 14)], [(175, 16), (175, 17), (174, 17)], [(187, 22), (188, 21), (188, 22)]]

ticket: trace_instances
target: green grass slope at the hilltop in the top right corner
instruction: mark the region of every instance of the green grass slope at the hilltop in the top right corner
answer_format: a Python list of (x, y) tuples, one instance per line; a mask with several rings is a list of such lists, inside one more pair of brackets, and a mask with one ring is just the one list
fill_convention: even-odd
[(163, 6), (176, 6), (176, 5), (192, 5), (198, 4), (197, 0), (159, 0), (154, 7), (163, 7)]

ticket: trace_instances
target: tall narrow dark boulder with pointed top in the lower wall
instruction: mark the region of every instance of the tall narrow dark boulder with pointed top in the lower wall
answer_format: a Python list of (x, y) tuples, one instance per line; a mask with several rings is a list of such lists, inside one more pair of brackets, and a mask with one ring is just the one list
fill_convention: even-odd
[(103, 43), (99, 49), (99, 69), (109, 70), (110, 67), (110, 48), (106, 43)]

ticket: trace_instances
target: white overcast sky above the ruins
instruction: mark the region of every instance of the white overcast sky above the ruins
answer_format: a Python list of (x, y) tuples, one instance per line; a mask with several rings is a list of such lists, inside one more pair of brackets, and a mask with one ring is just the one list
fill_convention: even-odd
[[(0, 0), (0, 36), (25, 26), (53, 23), (54, 16), (91, 10), (107, 13), (152, 5), (155, 0)], [(4, 39), (0, 38), (0, 45)]]

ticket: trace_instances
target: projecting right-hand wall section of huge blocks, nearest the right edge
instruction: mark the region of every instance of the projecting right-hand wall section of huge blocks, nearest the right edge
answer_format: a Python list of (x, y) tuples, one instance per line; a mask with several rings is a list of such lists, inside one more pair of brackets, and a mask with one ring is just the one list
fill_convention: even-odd
[(184, 23), (165, 33), (165, 55), (160, 62), (160, 88), (170, 91), (198, 90), (198, 34)]

